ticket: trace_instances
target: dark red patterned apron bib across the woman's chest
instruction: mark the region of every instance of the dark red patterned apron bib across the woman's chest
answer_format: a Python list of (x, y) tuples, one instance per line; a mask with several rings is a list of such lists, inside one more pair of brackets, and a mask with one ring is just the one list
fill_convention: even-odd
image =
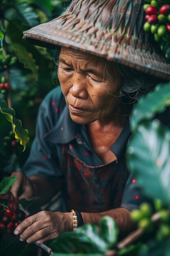
[(64, 198), (68, 209), (82, 212), (102, 212), (121, 204), (129, 176), (125, 159), (100, 166), (88, 166), (68, 151), (62, 152)]

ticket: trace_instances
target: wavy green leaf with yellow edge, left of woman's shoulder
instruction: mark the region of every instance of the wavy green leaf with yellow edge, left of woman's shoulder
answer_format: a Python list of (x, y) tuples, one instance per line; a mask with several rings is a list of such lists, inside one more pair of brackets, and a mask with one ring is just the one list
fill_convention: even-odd
[(22, 128), (21, 121), (15, 117), (15, 110), (13, 108), (9, 108), (7, 103), (2, 99), (0, 99), (0, 113), (2, 113), (7, 120), (11, 122), (15, 138), (20, 139), (20, 144), (24, 146), (25, 150), (26, 143), (29, 141), (28, 130)]

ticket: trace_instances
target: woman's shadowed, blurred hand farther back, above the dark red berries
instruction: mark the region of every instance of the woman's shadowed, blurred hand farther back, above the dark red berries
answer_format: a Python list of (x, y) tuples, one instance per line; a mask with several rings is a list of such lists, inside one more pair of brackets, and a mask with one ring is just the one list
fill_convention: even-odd
[(24, 198), (27, 201), (33, 200), (37, 193), (33, 182), (22, 172), (13, 172), (11, 176), (18, 178), (11, 187), (13, 195), (19, 196), (20, 199)]

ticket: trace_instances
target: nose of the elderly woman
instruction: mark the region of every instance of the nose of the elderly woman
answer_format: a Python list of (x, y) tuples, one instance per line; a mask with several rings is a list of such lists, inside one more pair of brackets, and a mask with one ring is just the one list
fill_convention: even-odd
[(87, 99), (88, 92), (86, 90), (86, 79), (84, 76), (79, 74), (74, 74), (72, 80), (72, 87), (70, 88), (70, 93), (74, 97), (80, 97), (82, 99)]

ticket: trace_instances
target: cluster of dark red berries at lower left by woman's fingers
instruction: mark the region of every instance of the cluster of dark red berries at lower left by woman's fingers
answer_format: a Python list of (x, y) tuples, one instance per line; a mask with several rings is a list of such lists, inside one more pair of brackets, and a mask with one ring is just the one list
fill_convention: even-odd
[(8, 191), (0, 195), (0, 230), (5, 230), (7, 234), (13, 233), (19, 223), (27, 217), (18, 207), (19, 198), (14, 197)]

